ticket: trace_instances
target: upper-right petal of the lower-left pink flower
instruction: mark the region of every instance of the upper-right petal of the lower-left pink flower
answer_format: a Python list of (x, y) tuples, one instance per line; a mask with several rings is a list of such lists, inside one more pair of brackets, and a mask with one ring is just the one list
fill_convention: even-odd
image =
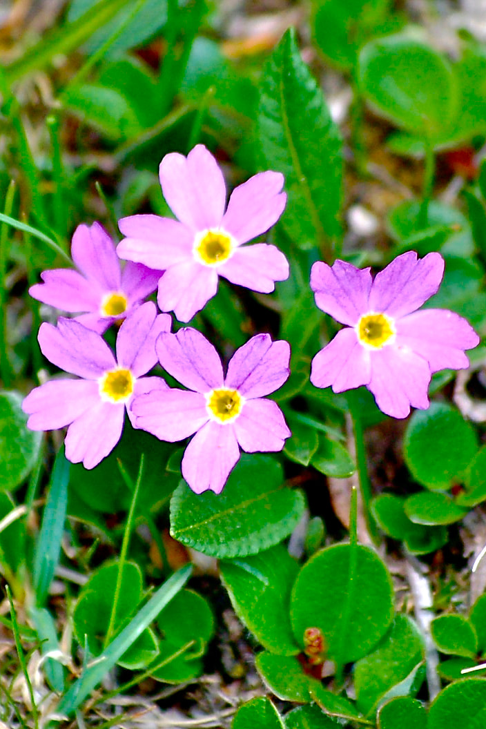
[(172, 319), (158, 314), (152, 301), (131, 312), (117, 336), (117, 360), (120, 367), (131, 370), (135, 377), (144, 375), (157, 364), (155, 340), (161, 332), (171, 331)]

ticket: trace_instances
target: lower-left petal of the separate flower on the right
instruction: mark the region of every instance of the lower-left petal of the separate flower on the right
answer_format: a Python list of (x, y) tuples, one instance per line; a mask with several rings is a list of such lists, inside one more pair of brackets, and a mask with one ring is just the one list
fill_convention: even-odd
[(349, 327), (342, 329), (315, 355), (310, 381), (315, 387), (332, 385), (333, 392), (367, 385), (371, 378), (369, 355), (369, 351), (358, 342), (355, 330)]

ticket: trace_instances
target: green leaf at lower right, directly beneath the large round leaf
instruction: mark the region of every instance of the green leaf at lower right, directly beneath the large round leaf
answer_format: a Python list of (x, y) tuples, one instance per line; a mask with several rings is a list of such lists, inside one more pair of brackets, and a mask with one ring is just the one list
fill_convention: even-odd
[[(367, 715), (373, 712), (378, 701), (391, 688), (404, 682), (423, 658), (423, 640), (415, 623), (407, 615), (396, 615), (376, 649), (356, 663), (354, 681), (358, 709)], [(408, 693), (407, 687), (403, 693)]]

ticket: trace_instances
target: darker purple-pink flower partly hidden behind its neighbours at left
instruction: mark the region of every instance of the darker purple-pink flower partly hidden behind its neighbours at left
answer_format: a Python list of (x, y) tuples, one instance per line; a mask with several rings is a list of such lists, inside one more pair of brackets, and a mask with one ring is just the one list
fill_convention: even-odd
[(99, 223), (78, 225), (71, 243), (78, 270), (56, 268), (41, 273), (43, 284), (29, 293), (44, 304), (77, 313), (75, 319), (102, 334), (114, 321), (122, 321), (157, 289), (160, 270), (128, 262), (121, 270), (114, 242)]

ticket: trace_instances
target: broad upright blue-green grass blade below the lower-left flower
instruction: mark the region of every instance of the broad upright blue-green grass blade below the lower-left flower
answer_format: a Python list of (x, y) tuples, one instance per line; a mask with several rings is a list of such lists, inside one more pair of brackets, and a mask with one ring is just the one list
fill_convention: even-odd
[(60, 448), (55, 459), (47, 502), (42, 515), (42, 526), (34, 556), (34, 588), (36, 605), (42, 607), (47, 600), (50, 583), (58, 566), (60, 542), (63, 538), (66, 507), (68, 504), (69, 461)]

